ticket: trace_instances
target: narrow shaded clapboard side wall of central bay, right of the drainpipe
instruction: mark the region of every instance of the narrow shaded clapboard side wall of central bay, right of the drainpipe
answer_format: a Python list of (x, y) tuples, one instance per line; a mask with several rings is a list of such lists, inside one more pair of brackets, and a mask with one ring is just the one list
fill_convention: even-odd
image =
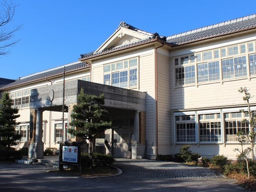
[(157, 55), (157, 123), (158, 154), (170, 148), (170, 64), (169, 57)]

